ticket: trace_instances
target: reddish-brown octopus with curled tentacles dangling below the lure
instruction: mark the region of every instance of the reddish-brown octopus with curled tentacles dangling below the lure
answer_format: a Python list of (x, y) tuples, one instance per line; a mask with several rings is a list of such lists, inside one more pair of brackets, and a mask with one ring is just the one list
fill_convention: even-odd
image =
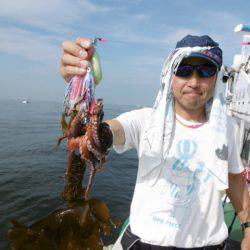
[[(64, 136), (58, 139), (57, 144), (59, 145), (62, 139), (67, 138), (68, 165), (65, 178), (68, 180), (68, 186), (63, 193), (63, 197), (69, 196), (68, 193), (70, 192), (70, 196), (72, 196), (70, 199), (75, 199), (84, 192), (85, 199), (88, 199), (95, 172), (103, 169), (108, 149), (112, 145), (112, 133), (106, 123), (102, 123), (104, 116), (102, 99), (97, 100), (88, 122), (83, 123), (81, 115), (73, 114), (72, 116), (73, 118), (69, 125), (67, 125), (63, 117)], [(78, 188), (77, 190), (69, 191), (69, 186), (81, 186), (83, 174), (79, 176), (76, 172), (84, 173), (86, 164), (90, 168), (90, 176), (86, 188), (84, 190)]]

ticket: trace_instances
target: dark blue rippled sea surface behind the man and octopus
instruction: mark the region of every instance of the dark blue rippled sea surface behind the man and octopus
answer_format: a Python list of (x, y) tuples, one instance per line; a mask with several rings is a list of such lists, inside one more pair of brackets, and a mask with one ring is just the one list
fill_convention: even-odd
[[(6, 233), (11, 219), (31, 225), (65, 204), (65, 142), (54, 149), (61, 135), (61, 106), (0, 100), (0, 249), (10, 248)], [(104, 100), (104, 120), (135, 108), (105, 105)], [(137, 163), (134, 150), (120, 155), (112, 151), (104, 171), (96, 173), (91, 196), (108, 205), (113, 219), (124, 221), (129, 215)], [(105, 243), (114, 242), (118, 234), (119, 230)]]

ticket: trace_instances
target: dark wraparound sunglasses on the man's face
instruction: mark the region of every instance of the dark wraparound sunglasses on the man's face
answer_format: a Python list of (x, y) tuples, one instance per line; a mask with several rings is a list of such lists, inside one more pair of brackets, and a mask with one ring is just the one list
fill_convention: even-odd
[(196, 71), (199, 77), (211, 77), (217, 73), (217, 67), (213, 65), (180, 65), (174, 72), (179, 77), (190, 77)]

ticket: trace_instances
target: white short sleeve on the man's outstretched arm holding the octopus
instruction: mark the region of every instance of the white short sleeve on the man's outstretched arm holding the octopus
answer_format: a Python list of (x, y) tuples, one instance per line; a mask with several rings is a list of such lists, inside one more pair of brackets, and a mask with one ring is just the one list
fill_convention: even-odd
[(135, 148), (138, 151), (141, 133), (145, 126), (147, 117), (150, 114), (150, 108), (143, 108), (123, 113), (115, 118), (124, 129), (125, 144), (113, 146), (117, 153), (123, 153), (129, 149)]

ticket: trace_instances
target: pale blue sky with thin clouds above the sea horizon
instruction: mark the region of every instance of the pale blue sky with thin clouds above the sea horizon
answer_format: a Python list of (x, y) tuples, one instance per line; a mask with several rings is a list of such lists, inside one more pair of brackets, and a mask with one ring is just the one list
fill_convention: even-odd
[(104, 103), (150, 106), (169, 52), (187, 34), (209, 35), (230, 66), (241, 52), (237, 24), (250, 24), (249, 0), (8, 0), (0, 2), (0, 98), (63, 101), (62, 43), (99, 44)]

